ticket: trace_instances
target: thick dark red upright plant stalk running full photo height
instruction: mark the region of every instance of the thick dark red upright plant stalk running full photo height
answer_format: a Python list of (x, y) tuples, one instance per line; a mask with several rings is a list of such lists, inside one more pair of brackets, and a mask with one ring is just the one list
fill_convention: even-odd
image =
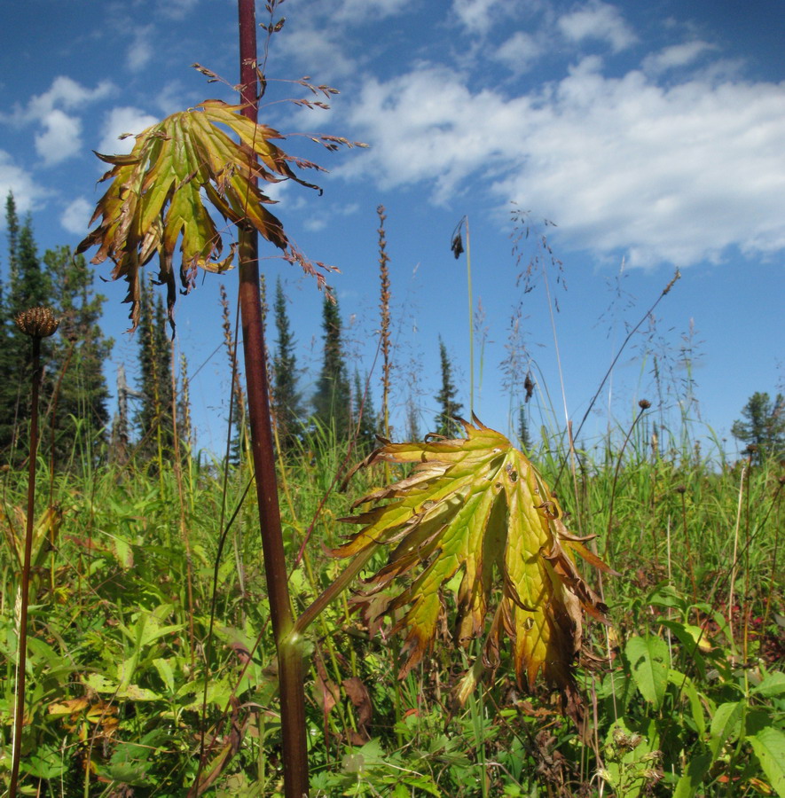
[[(254, 0), (238, 0), (238, 10), (241, 97), (246, 105), (243, 114), (251, 121), (256, 121), (259, 101)], [(258, 235), (249, 225), (239, 226), (239, 306), (264, 575), (270, 602), (272, 632), (278, 651), (284, 794), (286, 798), (303, 798), (308, 795), (308, 747), (302, 684), (302, 647), (292, 634), (294, 615), (289, 599), (287, 562), (281, 532), (270, 423), (270, 390), (264, 354), (262, 302), (259, 296)]]

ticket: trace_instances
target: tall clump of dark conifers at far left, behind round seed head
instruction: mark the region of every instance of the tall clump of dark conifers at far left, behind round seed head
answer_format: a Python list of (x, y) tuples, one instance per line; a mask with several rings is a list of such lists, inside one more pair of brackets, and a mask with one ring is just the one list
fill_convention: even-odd
[[(98, 325), (105, 297), (93, 291), (93, 273), (67, 246), (38, 254), (30, 218), (20, 223), (16, 202), (5, 202), (7, 281), (0, 291), (0, 451), (5, 462), (24, 457), (30, 417), (29, 339), (13, 323), (32, 307), (50, 307), (59, 329), (42, 341), (44, 364), (41, 451), (62, 461), (80, 446), (104, 440), (109, 392), (103, 374), (112, 341)], [(53, 447), (53, 448), (52, 448)], [(84, 449), (82, 452), (87, 453)]]

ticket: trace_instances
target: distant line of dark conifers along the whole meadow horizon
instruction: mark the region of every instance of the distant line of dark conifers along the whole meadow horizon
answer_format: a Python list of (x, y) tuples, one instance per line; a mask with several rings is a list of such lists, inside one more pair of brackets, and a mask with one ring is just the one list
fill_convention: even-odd
[[(383, 222), (383, 218), (382, 218)], [(192, 443), (191, 411), (188, 397), (187, 363), (181, 356), (174, 362), (167, 313), (151, 281), (142, 286), (141, 313), (137, 332), (138, 379), (135, 387), (126, 382), (122, 365), (118, 370), (116, 410), (110, 423), (110, 391), (105, 364), (114, 341), (106, 338), (100, 320), (106, 297), (93, 289), (93, 270), (68, 246), (56, 246), (39, 254), (30, 216), (20, 220), (13, 194), (5, 200), (7, 261), (0, 279), (0, 460), (18, 465), (25, 458), (25, 430), (29, 422), (31, 350), (27, 336), (14, 323), (23, 310), (47, 306), (59, 318), (54, 337), (43, 341), (42, 405), (44, 411), (42, 456), (60, 467), (76, 457), (98, 457), (101, 447), (120, 462), (131, 455), (158, 460), (181, 444)], [(383, 232), (383, 226), (381, 227)], [(383, 243), (383, 239), (382, 243)], [(384, 265), (389, 262), (381, 253)], [(384, 270), (384, 274), (387, 274)], [(389, 276), (382, 285), (382, 326), (389, 317)], [(266, 307), (266, 306), (265, 306)], [(280, 279), (272, 303), (274, 336), (268, 368), (271, 382), (271, 411), (280, 450), (301, 449), (309, 434), (319, 431), (335, 441), (352, 440), (360, 450), (369, 450), (377, 434), (385, 434), (389, 394), (389, 367), (383, 369), (381, 410), (373, 404), (373, 390), (367, 374), (357, 366), (349, 370), (342, 335), (341, 311), (335, 298), (325, 297), (322, 305), (322, 363), (315, 392), (308, 399), (300, 387), (296, 340), (287, 312), (287, 297)], [(228, 309), (224, 306), (224, 332), (230, 358), (234, 359)], [(457, 419), (464, 414), (453, 366), (444, 340), (439, 339), (441, 384), (434, 396), (438, 409), (427, 432), (445, 437), (460, 434)], [(233, 390), (232, 459), (239, 461), (247, 418), (245, 398), (239, 380)], [(130, 408), (133, 408), (133, 411)], [(408, 403), (405, 436), (420, 438), (419, 413)], [(785, 450), (785, 399), (773, 400), (755, 393), (742, 409), (743, 420), (734, 422), (731, 433), (749, 443), (756, 459)], [(523, 411), (519, 437), (530, 447)], [(75, 448), (78, 443), (78, 449)], [(187, 449), (186, 449), (187, 450)]]

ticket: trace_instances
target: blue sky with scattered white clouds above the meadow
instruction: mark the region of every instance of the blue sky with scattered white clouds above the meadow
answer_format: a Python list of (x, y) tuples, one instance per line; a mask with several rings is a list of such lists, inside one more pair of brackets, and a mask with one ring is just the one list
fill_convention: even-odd
[[(475, 411), (485, 424), (509, 429), (529, 369), (538, 383), (530, 426), (563, 427), (565, 407), (577, 424), (616, 348), (677, 268), (681, 279), (616, 365), (587, 440), (608, 423), (628, 424), (644, 397), (663, 401), (655, 420), (675, 424), (680, 402), (699, 433), (708, 425), (729, 438), (750, 394), (785, 391), (781, 0), (287, 0), (279, 16), (287, 21), (271, 40), (268, 76), (281, 82), (271, 82), (261, 117), (329, 172), (322, 197), (279, 186), (276, 212), (310, 257), (340, 268), (329, 281), (365, 372), (379, 325), (376, 207), (386, 207), (399, 431), (410, 395), (422, 431), (432, 426), (439, 335), (469, 404), (466, 261), (450, 251), (464, 215), (475, 312), (482, 306)], [(232, 99), (190, 68), (238, 79), (231, 0), (31, 0), (3, 17), (0, 195), (12, 190), (32, 213), (42, 249), (75, 246), (87, 231), (102, 193), (91, 150), (122, 152), (121, 133), (204, 98)], [(263, 4), (258, 21), (267, 21)], [(285, 102), (305, 96), (286, 82), (303, 75), (341, 91), (330, 110)], [(327, 153), (294, 135), (317, 132), (370, 147)], [(520, 262), (514, 208), (529, 212)], [(527, 293), (518, 277), (532, 257), (548, 261), (543, 233), (562, 267), (548, 265), (547, 280), (536, 270)], [(309, 395), (321, 296), (265, 254), (269, 284), (286, 281)], [(98, 273), (106, 277), (106, 265)], [(213, 449), (224, 439), (229, 385), (224, 352), (213, 354), (220, 282), (231, 290), (235, 275), (208, 275), (177, 306), (177, 346), (199, 370), (199, 442)], [(123, 286), (100, 290), (117, 341), (107, 364), (114, 379), (122, 362), (134, 372), (137, 344), (123, 333)], [(500, 368), (511, 346), (512, 386)], [(378, 408), (378, 366), (372, 389)]]

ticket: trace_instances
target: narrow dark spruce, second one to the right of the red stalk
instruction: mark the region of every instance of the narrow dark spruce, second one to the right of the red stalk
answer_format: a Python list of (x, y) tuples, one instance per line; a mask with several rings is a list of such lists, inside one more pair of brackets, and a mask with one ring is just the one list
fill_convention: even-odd
[(319, 424), (334, 429), (339, 441), (349, 435), (351, 407), (349, 379), (341, 344), (341, 312), (338, 301), (325, 297), (322, 306), (325, 354), (319, 375), (317, 392), (313, 397), (314, 416)]

